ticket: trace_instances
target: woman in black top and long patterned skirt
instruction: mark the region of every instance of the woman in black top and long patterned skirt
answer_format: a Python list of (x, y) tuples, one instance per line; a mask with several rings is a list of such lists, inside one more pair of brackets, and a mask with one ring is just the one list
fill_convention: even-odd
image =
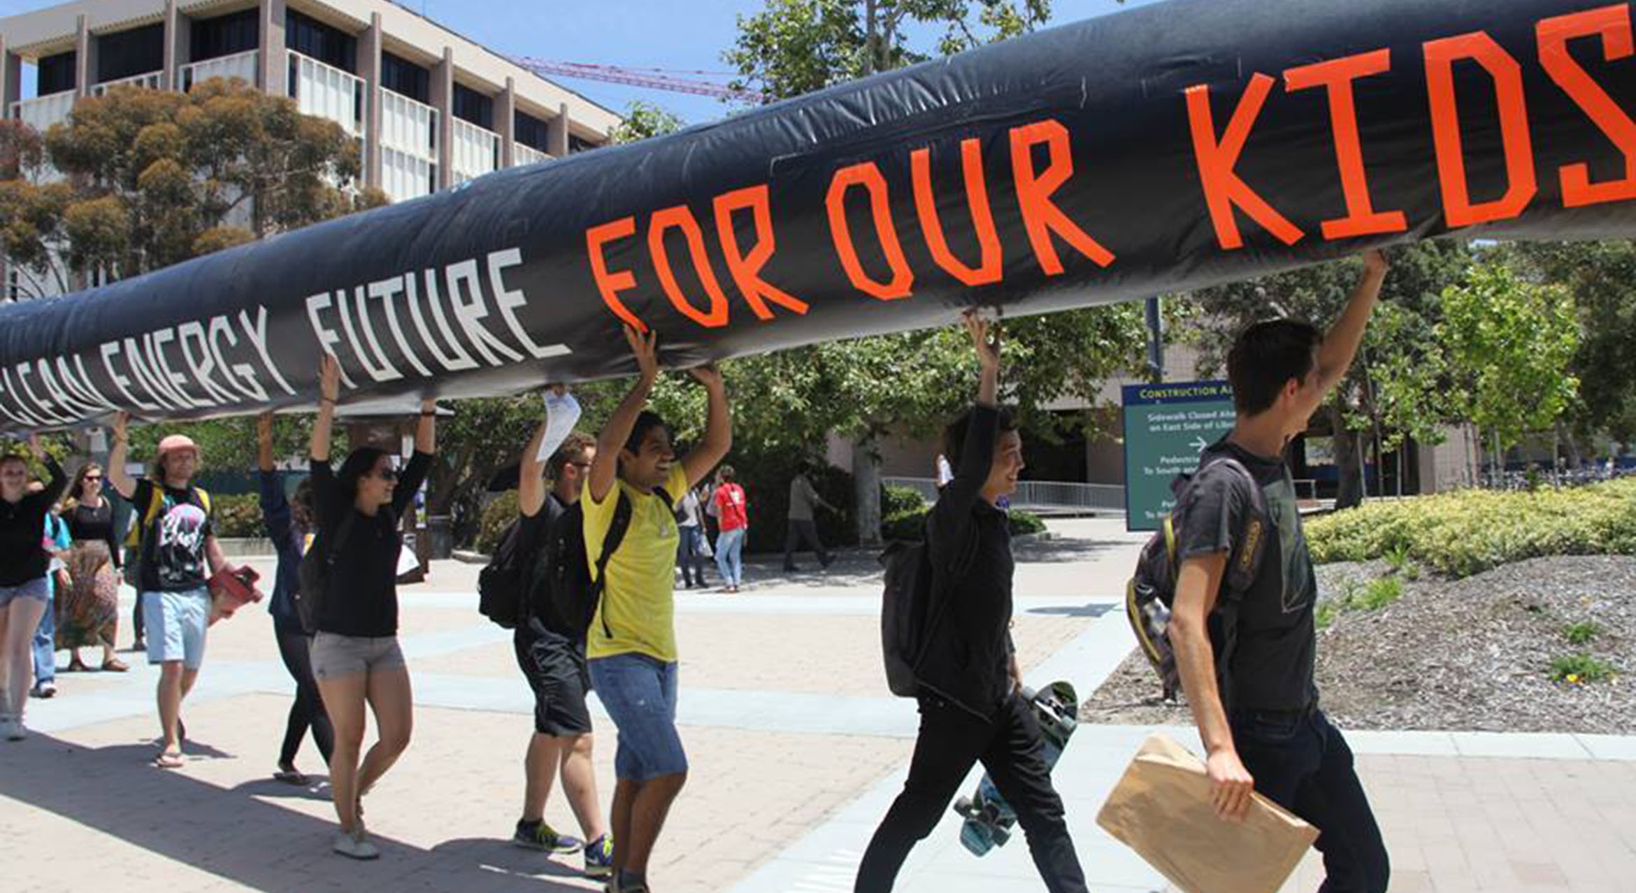
[(57, 648), (69, 653), (69, 671), (88, 669), (82, 648), (103, 649), (101, 669), (124, 672), (115, 657), (119, 633), (119, 538), (113, 528), (113, 502), (103, 496), (103, 468), (80, 466), (62, 502), (69, 525), (69, 586), (57, 594)]

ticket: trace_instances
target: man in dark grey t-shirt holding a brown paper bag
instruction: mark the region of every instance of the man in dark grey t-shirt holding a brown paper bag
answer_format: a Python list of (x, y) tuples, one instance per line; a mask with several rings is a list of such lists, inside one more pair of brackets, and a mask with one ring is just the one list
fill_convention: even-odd
[[(1310, 821), (1322, 831), (1327, 893), (1384, 891), (1389, 860), (1351, 749), (1319, 710), (1317, 577), (1286, 448), (1351, 366), (1384, 278), (1386, 258), (1366, 254), (1328, 334), (1276, 319), (1238, 335), (1227, 355), (1237, 422), (1204, 451), (1176, 510), (1168, 639), (1207, 752), (1216, 811), (1242, 819), (1256, 790)], [(1256, 523), (1265, 536), (1245, 536)], [(1229, 586), (1240, 563), (1253, 572), (1245, 586)]]

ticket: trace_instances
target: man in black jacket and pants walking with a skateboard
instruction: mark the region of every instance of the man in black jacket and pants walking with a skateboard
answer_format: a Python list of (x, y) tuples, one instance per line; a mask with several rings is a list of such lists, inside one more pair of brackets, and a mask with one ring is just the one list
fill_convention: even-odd
[(931, 510), (931, 636), (916, 667), (919, 736), (903, 793), (875, 829), (857, 868), (857, 893), (892, 890), (910, 849), (937, 824), (972, 764), (982, 761), (1018, 813), (1029, 852), (1052, 893), (1085, 891), (1062, 798), (1050, 785), (1039, 723), (1021, 697), (1011, 644), (1011, 532), (995, 502), (1016, 491), (1022, 438), (995, 402), (1000, 334), (969, 311), (982, 381), (977, 406), (944, 432), (954, 479)]

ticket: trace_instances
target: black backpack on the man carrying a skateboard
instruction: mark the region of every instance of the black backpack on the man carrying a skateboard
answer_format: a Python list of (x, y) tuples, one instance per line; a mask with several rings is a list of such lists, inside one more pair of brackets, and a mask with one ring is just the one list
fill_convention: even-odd
[[(967, 550), (972, 554), (975, 550)], [(947, 600), (936, 599), (931, 566), (931, 515), (918, 543), (895, 541), (880, 553), (885, 589), (880, 597), (880, 656), (887, 664), (887, 689), (900, 698), (919, 693), (919, 661), (926, 643), (947, 613)]]

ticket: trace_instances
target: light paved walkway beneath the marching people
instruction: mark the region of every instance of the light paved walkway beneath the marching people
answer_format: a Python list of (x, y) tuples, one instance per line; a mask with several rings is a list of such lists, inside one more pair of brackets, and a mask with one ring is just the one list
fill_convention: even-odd
[[(1093, 689), (1129, 649), (1119, 594), (1139, 538), (1116, 522), (1057, 522), (1021, 551), (1018, 626), (1027, 675)], [(532, 710), (509, 635), (474, 610), (476, 569), (440, 564), (406, 587), (402, 641), (416, 687), (414, 744), (370, 798), (376, 864), (327, 852), (324, 788), (270, 779), (290, 684), (258, 608), (219, 625), (187, 707), (190, 762), (146, 765), (152, 684), (59, 674), (31, 707), (38, 734), (0, 747), (0, 888), (64, 890), (594, 890), (571, 862), (506, 837), (520, 798)], [(681, 594), (681, 723), (689, 787), (654, 855), (666, 891), (851, 888), (874, 824), (901, 787), (911, 702), (883, 697), (879, 568), (751, 569), (744, 595)], [(126, 612), (128, 613), (128, 612)], [(123, 635), (129, 635), (121, 630)], [(137, 664), (133, 661), (133, 664)], [(597, 728), (610, 729), (596, 711)], [(1094, 816), (1148, 729), (1083, 728), (1057, 769), (1093, 890), (1163, 890)], [(1196, 747), (1188, 729), (1171, 729)], [(1350, 736), (1394, 854), (1394, 890), (1636, 890), (1636, 739), (1356, 733)], [(597, 747), (612, 790), (612, 734)], [(317, 769), (311, 744), (303, 752)], [(973, 779), (975, 783), (975, 779)], [(571, 828), (553, 797), (548, 818)], [(952, 813), (905, 867), (900, 890), (1040, 890), (1022, 842), (975, 859)], [(1314, 890), (1309, 860), (1291, 890)]]

